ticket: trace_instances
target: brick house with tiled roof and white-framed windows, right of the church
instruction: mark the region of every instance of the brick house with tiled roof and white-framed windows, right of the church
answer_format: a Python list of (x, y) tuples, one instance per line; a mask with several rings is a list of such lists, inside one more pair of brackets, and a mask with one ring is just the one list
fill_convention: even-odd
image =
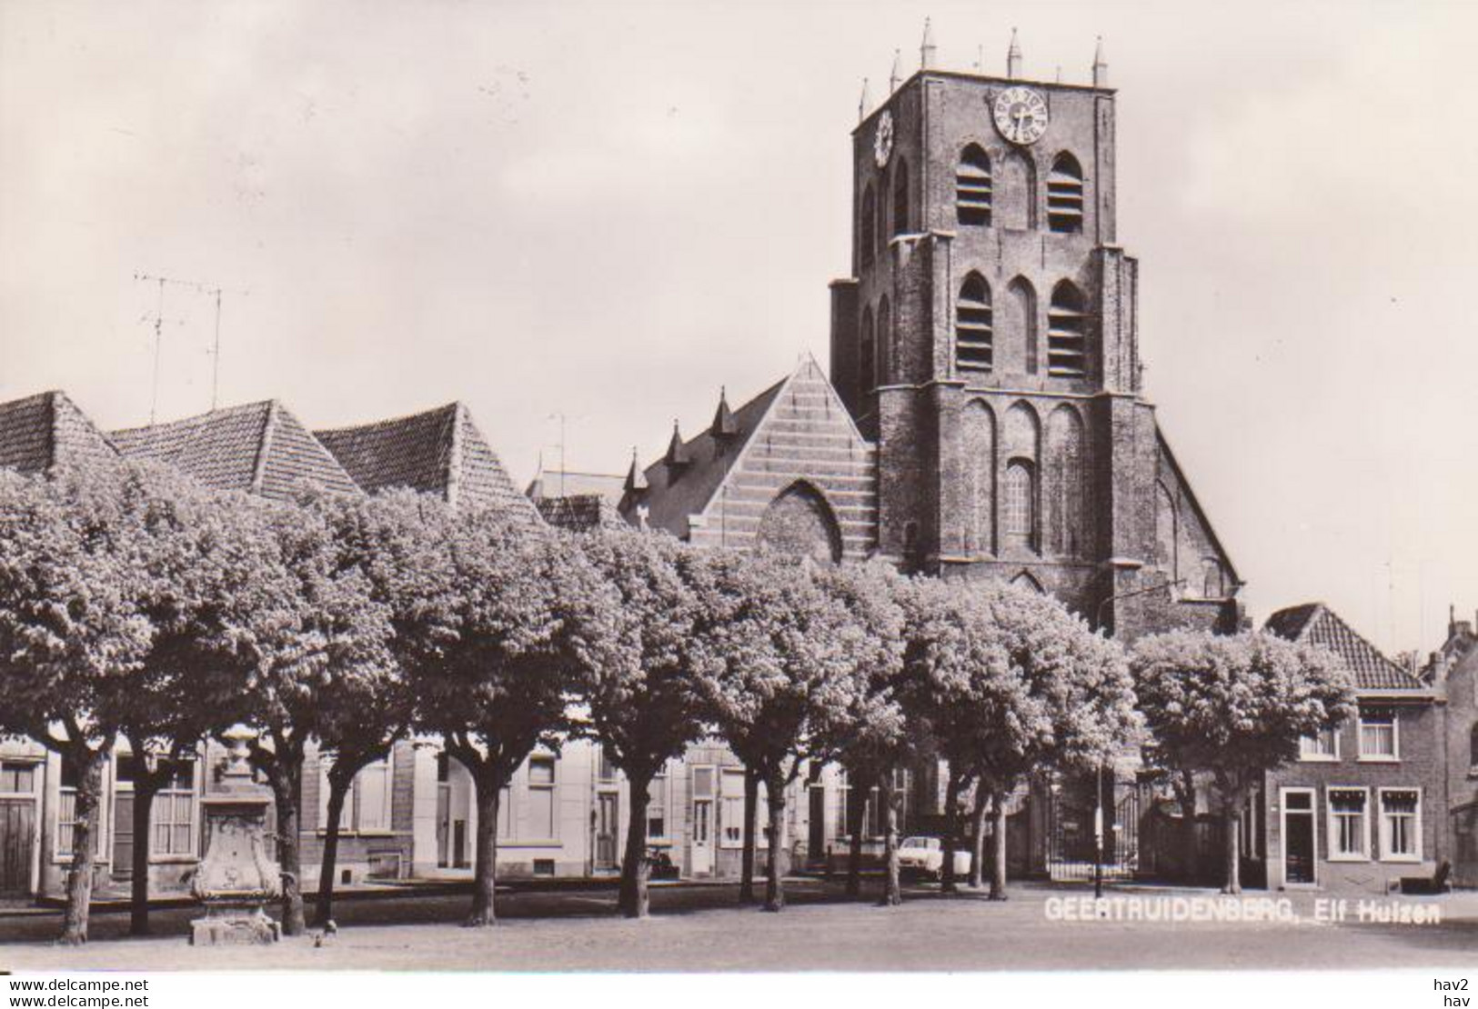
[(1280, 610), (1265, 629), (1335, 651), (1358, 703), (1354, 721), (1302, 740), (1244, 817), (1268, 888), (1383, 894), (1404, 876), (1432, 876), (1447, 857), (1441, 693), (1321, 603)]

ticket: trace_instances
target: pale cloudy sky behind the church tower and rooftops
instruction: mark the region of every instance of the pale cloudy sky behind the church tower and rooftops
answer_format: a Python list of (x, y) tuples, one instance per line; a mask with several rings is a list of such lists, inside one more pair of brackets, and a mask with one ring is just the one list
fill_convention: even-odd
[[(1148, 393), (1259, 619), (1478, 607), (1472, 3), (0, 0), (0, 399), (146, 423), (157, 288), (222, 403), (471, 408), (621, 471), (828, 347), (893, 50), (1119, 89)], [(210, 408), (166, 290), (160, 418)]]

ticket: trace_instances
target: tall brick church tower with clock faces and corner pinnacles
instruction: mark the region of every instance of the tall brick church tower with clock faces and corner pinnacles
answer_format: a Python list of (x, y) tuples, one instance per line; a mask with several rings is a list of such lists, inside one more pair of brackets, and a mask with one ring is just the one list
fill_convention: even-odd
[(831, 381), (876, 445), (878, 553), (1119, 635), (1233, 629), (1240, 581), (1141, 391), (1114, 92), (921, 69), (853, 131)]

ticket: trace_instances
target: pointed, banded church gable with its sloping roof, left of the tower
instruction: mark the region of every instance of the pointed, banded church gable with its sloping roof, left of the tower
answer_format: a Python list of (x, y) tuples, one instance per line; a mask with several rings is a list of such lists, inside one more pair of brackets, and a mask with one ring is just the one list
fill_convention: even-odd
[(876, 448), (813, 358), (732, 411), (724, 427), (684, 442), (683, 465), (667, 456), (649, 465), (647, 488), (622, 499), (627, 521), (705, 547), (754, 547), (772, 505), (798, 492), (829, 514), (842, 558), (875, 551)]

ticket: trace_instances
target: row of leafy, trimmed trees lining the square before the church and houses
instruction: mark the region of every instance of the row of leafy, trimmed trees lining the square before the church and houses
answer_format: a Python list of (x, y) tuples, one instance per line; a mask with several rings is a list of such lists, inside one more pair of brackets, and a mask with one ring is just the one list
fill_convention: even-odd
[[(906, 579), (885, 564), (702, 551), (636, 530), (566, 535), (409, 492), (275, 502), (132, 462), (0, 471), (0, 731), (59, 752), (78, 774), (69, 943), (87, 935), (102, 774), (120, 739), (134, 836), (148, 839), (171, 762), (234, 724), (256, 730), (284, 931), (300, 934), (299, 813), (313, 748), (333, 758), (319, 917), (331, 914), (355, 776), (396, 740), (429, 734), (474, 783), (467, 922), (488, 925), (498, 802), (541, 745), (594, 739), (630, 781), (619, 907), (644, 916), (650, 781), (693, 742), (723, 739), (745, 767), (742, 898), (754, 898), (763, 784), (764, 907), (780, 910), (788, 786), (817, 762), (844, 767), (854, 793), (878, 790), (882, 903), (896, 904), (894, 771), (943, 758), (946, 886), (973, 792), (977, 845), (995, 817), (999, 898), (1007, 798), (1027, 776), (1095, 767), (1147, 722), (1147, 752), (1215, 776), (1234, 817), (1261, 770), (1349, 706), (1346, 675), (1324, 651), (1171, 634), (1126, 654), (1039, 594)], [(148, 852), (134, 845), (136, 932), (148, 931)], [(1231, 888), (1236, 861), (1231, 849)], [(977, 883), (980, 864), (977, 854)]]

